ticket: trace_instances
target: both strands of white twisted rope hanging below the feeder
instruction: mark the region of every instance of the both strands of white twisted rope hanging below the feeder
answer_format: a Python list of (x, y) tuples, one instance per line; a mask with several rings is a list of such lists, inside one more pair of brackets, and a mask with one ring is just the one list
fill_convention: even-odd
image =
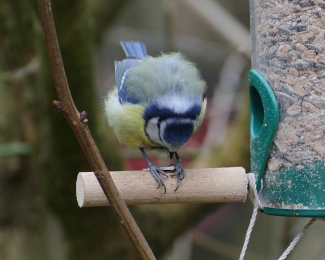
[[(256, 218), (257, 218), (258, 209), (263, 210), (263, 205), (262, 205), (261, 201), (259, 201), (259, 198), (258, 198), (258, 192), (257, 192), (257, 189), (256, 189), (255, 175), (253, 173), (248, 173), (247, 178), (248, 178), (248, 195), (249, 195), (249, 198), (250, 198), (250, 200), (252, 201), (252, 203), (254, 205), (254, 208), (253, 208), (252, 217), (251, 217), (249, 225), (248, 225), (244, 245), (243, 245), (242, 252), (240, 254), (239, 260), (244, 260), (244, 257), (245, 257), (246, 251), (247, 251), (247, 247), (248, 247), (248, 243), (249, 243), (249, 239), (250, 239), (250, 235), (251, 235), (251, 233), (253, 231), (253, 227), (255, 225), (255, 221), (256, 221)], [(287, 249), (278, 258), (278, 260), (286, 259), (288, 254), (295, 248), (295, 246), (298, 244), (299, 240), (305, 234), (306, 230), (309, 229), (310, 226), (317, 219), (325, 220), (325, 218), (315, 218), (315, 217), (312, 218), (304, 226), (303, 230), (296, 236), (296, 238), (290, 243), (290, 245), (287, 247)]]

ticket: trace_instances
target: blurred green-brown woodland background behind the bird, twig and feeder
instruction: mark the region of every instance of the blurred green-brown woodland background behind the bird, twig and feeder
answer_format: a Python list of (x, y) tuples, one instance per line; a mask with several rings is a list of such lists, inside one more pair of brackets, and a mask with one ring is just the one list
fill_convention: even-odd
[[(103, 114), (119, 42), (137, 40), (152, 56), (183, 52), (208, 83), (204, 124), (179, 152), (185, 166), (249, 172), (248, 0), (53, 0), (52, 11), (74, 101), (109, 170), (146, 167)], [(76, 176), (90, 169), (55, 99), (36, 1), (1, 1), (0, 259), (138, 259), (111, 208), (77, 206)], [(165, 152), (149, 156), (170, 164)], [(249, 201), (129, 208), (165, 260), (238, 259), (252, 212)], [(259, 214), (246, 258), (276, 259), (306, 222)], [(318, 222), (290, 259), (325, 258)]]

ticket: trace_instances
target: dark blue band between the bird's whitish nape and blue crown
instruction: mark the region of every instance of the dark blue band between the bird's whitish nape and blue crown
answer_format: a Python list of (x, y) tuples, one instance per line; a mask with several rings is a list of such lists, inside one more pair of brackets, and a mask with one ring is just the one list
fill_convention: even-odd
[(148, 122), (151, 118), (158, 117), (159, 122), (164, 121), (168, 118), (189, 118), (197, 119), (201, 113), (201, 106), (194, 105), (188, 109), (185, 113), (176, 113), (175, 111), (169, 108), (158, 108), (155, 104), (151, 105), (145, 110), (144, 120)]

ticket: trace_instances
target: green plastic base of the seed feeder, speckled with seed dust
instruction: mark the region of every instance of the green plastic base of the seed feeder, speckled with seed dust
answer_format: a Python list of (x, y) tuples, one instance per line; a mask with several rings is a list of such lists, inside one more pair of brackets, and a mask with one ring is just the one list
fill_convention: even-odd
[(325, 217), (325, 166), (323, 161), (304, 168), (266, 171), (263, 177), (264, 212), (270, 215)]

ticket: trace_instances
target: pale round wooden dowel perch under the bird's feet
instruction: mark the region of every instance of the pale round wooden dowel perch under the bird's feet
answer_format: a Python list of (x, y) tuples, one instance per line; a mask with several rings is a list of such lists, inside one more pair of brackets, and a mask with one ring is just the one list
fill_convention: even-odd
[[(177, 191), (175, 177), (164, 178), (167, 192), (157, 188), (149, 171), (110, 172), (124, 202), (128, 205), (159, 203), (244, 202), (248, 179), (245, 169), (188, 169)], [(79, 207), (109, 206), (92, 172), (78, 174), (76, 183)]]

